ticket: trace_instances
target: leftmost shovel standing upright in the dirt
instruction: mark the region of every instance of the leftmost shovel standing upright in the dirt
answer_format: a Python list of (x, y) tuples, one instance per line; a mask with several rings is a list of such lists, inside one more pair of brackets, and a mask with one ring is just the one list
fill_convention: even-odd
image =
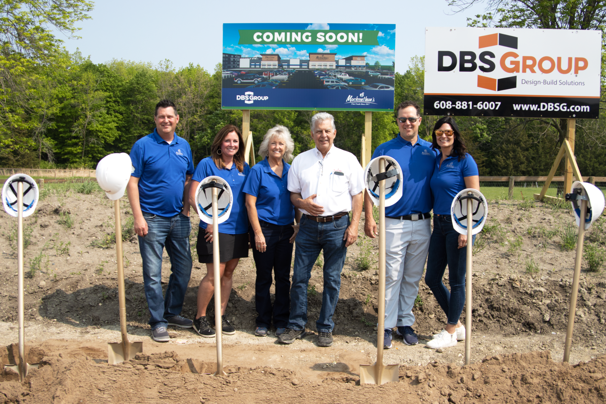
[[(13, 188), (14, 189), (14, 188)], [(25, 360), (25, 326), (23, 303), (23, 182), (17, 182), (17, 311), (19, 316), (19, 363), (18, 365), (4, 365), (19, 374), (19, 381), (23, 382), (30, 368), (38, 369), (39, 363), (27, 363)]]

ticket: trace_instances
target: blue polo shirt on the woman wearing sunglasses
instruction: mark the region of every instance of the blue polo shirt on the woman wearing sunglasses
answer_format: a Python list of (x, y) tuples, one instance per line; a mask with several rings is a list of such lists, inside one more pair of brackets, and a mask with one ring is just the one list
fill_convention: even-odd
[(442, 153), (436, 158), (436, 165), (431, 176), (431, 193), (433, 194), (433, 213), (450, 214), (453, 199), (465, 188), (464, 177), (478, 174), (478, 164), (471, 154), (459, 161), (458, 156), (446, 157), (440, 165)]

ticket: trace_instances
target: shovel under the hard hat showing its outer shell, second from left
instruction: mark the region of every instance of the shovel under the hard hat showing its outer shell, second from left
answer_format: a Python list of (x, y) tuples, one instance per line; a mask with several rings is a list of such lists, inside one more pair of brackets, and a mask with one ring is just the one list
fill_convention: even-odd
[(122, 262), (122, 226), (120, 223), (120, 199), (114, 200), (116, 216), (116, 261), (118, 261), (118, 302), (120, 306), (120, 333), (122, 342), (107, 344), (107, 363), (115, 365), (135, 358), (143, 352), (142, 342), (130, 342), (126, 330), (126, 297), (124, 294), (124, 265)]

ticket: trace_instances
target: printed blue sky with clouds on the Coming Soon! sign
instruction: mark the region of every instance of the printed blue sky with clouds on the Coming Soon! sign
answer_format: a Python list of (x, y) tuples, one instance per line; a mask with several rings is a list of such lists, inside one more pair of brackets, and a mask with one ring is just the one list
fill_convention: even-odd
[[(240, 36), (238, 29), (247, 30), (372, 30), (379, 31), (378, 45), (238, 45)], [(370, 64), (375, 61), (383, 65), (391, 65), (395, 61), (396, 26), (395, 24), (224, 24), (223, 51), (237, 53), (244, 58), (259, 56), (260, 53), (278, 53), (282, 59), (309, 59), (310, 52), (336, 53), (335, 59), (347, 58), (351, 55), (364, 55)]]

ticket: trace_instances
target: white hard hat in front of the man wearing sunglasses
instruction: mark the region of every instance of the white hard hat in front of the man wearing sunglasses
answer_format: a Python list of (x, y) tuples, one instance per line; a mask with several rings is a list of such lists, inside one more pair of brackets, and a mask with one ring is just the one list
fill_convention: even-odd
[[(379, 173), (379, 159), (385, 159), (385, 172)], [(379, 205), (379, 181), (385, 179), (385, 206), (391, 206), (402, 197), (402, 169), (390, 156), (379, 156), (364, 169), (364, 187), (375, 205)]]

